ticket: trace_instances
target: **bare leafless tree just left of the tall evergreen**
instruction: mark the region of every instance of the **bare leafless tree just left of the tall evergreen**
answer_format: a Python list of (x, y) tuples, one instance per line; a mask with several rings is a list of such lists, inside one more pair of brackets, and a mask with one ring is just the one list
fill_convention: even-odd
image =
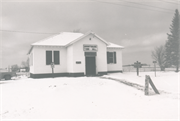
[(154, 50), (152, 51), (152, 58), (157, 61), (159, 67), (161, 68), (161, 71), (165, 70), (165, 48), (163, 45), (159, 47), (155, 47)]

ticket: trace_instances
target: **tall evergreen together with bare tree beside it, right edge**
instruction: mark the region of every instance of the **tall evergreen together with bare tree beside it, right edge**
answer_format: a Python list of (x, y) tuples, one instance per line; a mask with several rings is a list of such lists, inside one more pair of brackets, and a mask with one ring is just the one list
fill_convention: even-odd
[(170, 33), (167, 33), (167, 40), (164, 45), (155, 47), (152, 51), (152, 58), (157, 61), (164, 71), (165, 68), (175, 67), (176, 72), (179, 72), (180, 66), (180, 14), (176, 9), (169, 27)]

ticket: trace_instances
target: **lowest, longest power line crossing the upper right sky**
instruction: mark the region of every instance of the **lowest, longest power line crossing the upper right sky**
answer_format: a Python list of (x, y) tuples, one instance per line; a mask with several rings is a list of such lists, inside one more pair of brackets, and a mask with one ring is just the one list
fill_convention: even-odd
[(149, 8), (140, 8), (140, 7), (135, 7), (135, 6), (123, 5), (123, 4), (120, 4), (120, 3), (117, 4), (117, 3), (104, 2), (104, 1), (98, 1), (98, 0), (92, 0), (92, 1), (100, 2), (100, 3), (106, 3), (106, 4), (112, 4), (112, 5), (119, 5), (119, 6), (126, 6), (126, 7), (144, 9), (144, 10), (159, 11), (159, 12), (164, 12), (164, 13), (172, 14), (171, 12), (167, 12), (167, 11), (160, 11), (160, 10), (149, 9)]

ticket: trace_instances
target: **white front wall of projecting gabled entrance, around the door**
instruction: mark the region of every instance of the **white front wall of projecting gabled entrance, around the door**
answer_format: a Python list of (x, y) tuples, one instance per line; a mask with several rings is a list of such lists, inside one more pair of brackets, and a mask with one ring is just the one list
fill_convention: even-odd
[[(89, 40), (91, 38), (91, 40)], [(84, 72), (86, 74), (85, 67), (85, 55), (83, 50), (83, 45), (97, 45), (98, 51), (96, 56), (96, 73), (97, 72), (107, 72), (107, 47), (104, 42), (94, 37), (92, 34), (86, 36), (82, 40), (74, 43), (73, 46), (73, 70), (75, 73)], [(76, 64), (76, 61), (81, 61), (81, 64)]]

